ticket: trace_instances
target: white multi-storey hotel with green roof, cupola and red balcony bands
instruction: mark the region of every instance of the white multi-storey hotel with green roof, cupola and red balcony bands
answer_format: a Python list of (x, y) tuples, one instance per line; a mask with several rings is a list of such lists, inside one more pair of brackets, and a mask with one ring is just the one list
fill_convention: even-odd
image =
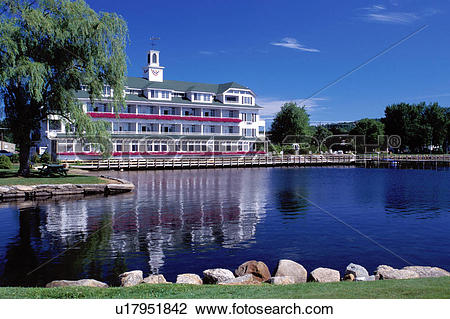
[[(128, 77), (126, 105), (114, 112), (112, 96), (91, 103), (86, 88), (76, 92), (93, 120), (111, 123), (114, 157), (244, 155), (261, 153), (265, 140), (262, 107), (255, 93), (235, 82), (205, 84), (164, 80), (159, 51), (150, 50), (145, 77)], [(68, 127), (67, 127), (68, 129)], [(96, 159), (95, 145), (77, 140), (57, 117), (42, 123), (40, 150), (58, 159)]]

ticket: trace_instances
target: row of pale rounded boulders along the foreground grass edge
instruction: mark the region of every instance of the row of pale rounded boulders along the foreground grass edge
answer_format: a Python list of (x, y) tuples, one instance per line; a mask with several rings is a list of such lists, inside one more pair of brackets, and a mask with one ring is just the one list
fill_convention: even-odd
[[(274, 285), (289, 285), (306, 282), (339, 282), (339, 281), (374, 281), (390, 279), (411, 279), (450, 276), (450, 272), (430, 266), (408, 266), (395, 269), (391, 266), (380, 265), (369, 275), (367, 269), (361, 265), (349, 264), (341, 277), (338, 270), (319, 267), (309, 274), (301, 264), (281, 259), (273, 276), (267, 265), (261, 261), (250, 260), (241, 264), (234, 272), (224, 268), (206, 269), (203, 278), (197, 274), (179, 274), (176, 284), (189, 285), (260, 285), (270, 283)], [(132, 270), (119, 275), (121, 287), (132, 287), (140, 284), (171, 284), (163, 275), (149, 275), (144, 278), (142, 270)], [(108, 288), (108, 284), (95, 279), (55, 280), (46, 285), (55, 287), (98, 287)]]

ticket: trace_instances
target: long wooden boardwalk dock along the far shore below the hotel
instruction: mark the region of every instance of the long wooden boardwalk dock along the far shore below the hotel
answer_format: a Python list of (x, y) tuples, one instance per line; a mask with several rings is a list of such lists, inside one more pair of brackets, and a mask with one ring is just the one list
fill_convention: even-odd
[(380, 155), (380, 154), (326, 154), (284, 156), (230, 156), (230, 157), (172, 157), (172, 158), (121, 158), (66, 162), (72, 167), (89, 170), (139, 170), (139, 169), (190, 169), (221, 167), (276, 167), (276, 166), (325, 166), (370, 165), (401, 162), (440, 163), (450, 165), (450, 155)]

